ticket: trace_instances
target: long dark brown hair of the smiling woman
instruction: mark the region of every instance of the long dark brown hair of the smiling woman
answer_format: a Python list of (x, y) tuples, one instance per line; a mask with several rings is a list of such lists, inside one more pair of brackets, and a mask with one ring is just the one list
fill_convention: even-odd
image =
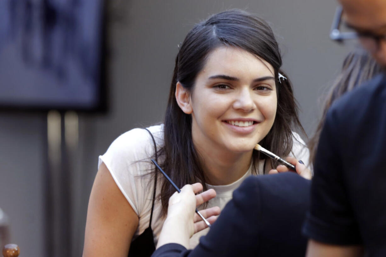
[[(179, 81), (183, 87), (191, 91), (208, 54), (224, 45), (247, 50), (266, 60), (274, 68), (278, 94), (276, 118), (271, 130), (260, 144), (279, 156), (287, 156), (292, 149), (292, 126), (297, 126), (304, 133), (298, 119), (298, 108), (291, 84), (288, 79), (281, 79), (281, 83), (278, 80), (278, 72), (286, 75), (280, 71), (282, 64), (280, 50), (269, 25), (261, 18), (242, 10), (217, 13), (190, 30), (179, 47), (175, 61), (164, 120), (165, 143), (159, 154), (164, 156), (161, 167), (179, 187), (199, 181), (206, 190), (205, 176), (192, 141), (192, 117), (185, 114), (177, 104), (176, 83)], [(263, 158), (265, 156), (260, 156), (258, 151), (253, 151), (254, 173), (257, 173), (258, 161)], [(268, 161), (272, 167), (276, 167), (276, 163), (271, 159)], [(164, 212), (167, 210), (169, 197), (174, 192), (175, 189), (163, 181), (161, 202)]]

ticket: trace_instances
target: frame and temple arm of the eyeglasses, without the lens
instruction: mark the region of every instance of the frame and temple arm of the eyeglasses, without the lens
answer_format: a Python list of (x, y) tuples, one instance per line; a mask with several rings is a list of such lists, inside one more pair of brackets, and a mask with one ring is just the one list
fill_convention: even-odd
[(340, 22), (342, 21), (343, 8), (338, 6), (335, 10), (334, 20), (332, 21), (330, 30), (330, 39), (343, 43), (347, 39), (359, 39), (360, 37), (367, 37), (373, 39), (376, 43), (377, 49), (379, 49), (379, 43), (381, 40), (386, 40), (385, 35), (376, 35), (371, 32), (341, 32), (339, 30)]

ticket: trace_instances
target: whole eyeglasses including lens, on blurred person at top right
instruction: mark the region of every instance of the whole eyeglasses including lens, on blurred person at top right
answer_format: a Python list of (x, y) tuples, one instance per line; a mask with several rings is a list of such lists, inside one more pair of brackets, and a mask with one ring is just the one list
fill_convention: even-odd
[(337, 7), (334, 20), (332, 22), (330, 39), (343, 43), (345, 40), (358, 39), (363, 47), (371, 53), (379, 50), (381, 40), (386, 40), (386, 35), (377, 35), (369, 31), (349, 31), (342, 32), (339, 27), (342, 22), (342, 7)]

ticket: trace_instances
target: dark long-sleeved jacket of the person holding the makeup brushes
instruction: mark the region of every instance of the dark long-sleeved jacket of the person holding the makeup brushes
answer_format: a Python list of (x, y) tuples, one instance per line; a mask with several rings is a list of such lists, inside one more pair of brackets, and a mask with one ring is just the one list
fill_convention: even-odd
[(301, 225), (309, 195), (310, 181), (293, 172), (250, 176), (195, 249), (167, 244), (152, 257), (303, 257), (307, 239), (301, 235)]

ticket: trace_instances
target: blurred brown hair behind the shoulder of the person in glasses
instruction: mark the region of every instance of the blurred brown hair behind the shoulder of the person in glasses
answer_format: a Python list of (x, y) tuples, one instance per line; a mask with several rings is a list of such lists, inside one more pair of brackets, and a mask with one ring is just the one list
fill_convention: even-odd
[(367, 51), (357, 48), (352, 50), (344, 59), (342, 71), (335, 79), (332, 87), (329, 89), (323, 103), (322, 117), (317, 125), (316, 131), (308, 141), (308, 149), (310, 149), (310, 163), (315, 162), (316, 151), (320, 132), (326, 119), (326, 114), (332, 103), (341, 97), (344, 93), (351, 91), (363, 82), (371, 79), (374, 75), (382, 71), (371, 55)]

